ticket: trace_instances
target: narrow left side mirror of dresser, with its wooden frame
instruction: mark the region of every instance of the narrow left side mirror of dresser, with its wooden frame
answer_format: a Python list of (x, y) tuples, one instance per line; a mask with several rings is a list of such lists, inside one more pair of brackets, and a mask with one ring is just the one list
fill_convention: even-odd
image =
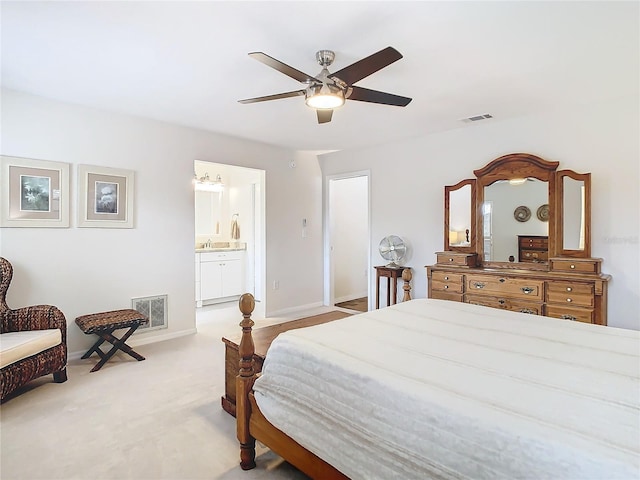
[(444, 187), (445, 250), (475, 251), (476, 180), (467, 179)]

